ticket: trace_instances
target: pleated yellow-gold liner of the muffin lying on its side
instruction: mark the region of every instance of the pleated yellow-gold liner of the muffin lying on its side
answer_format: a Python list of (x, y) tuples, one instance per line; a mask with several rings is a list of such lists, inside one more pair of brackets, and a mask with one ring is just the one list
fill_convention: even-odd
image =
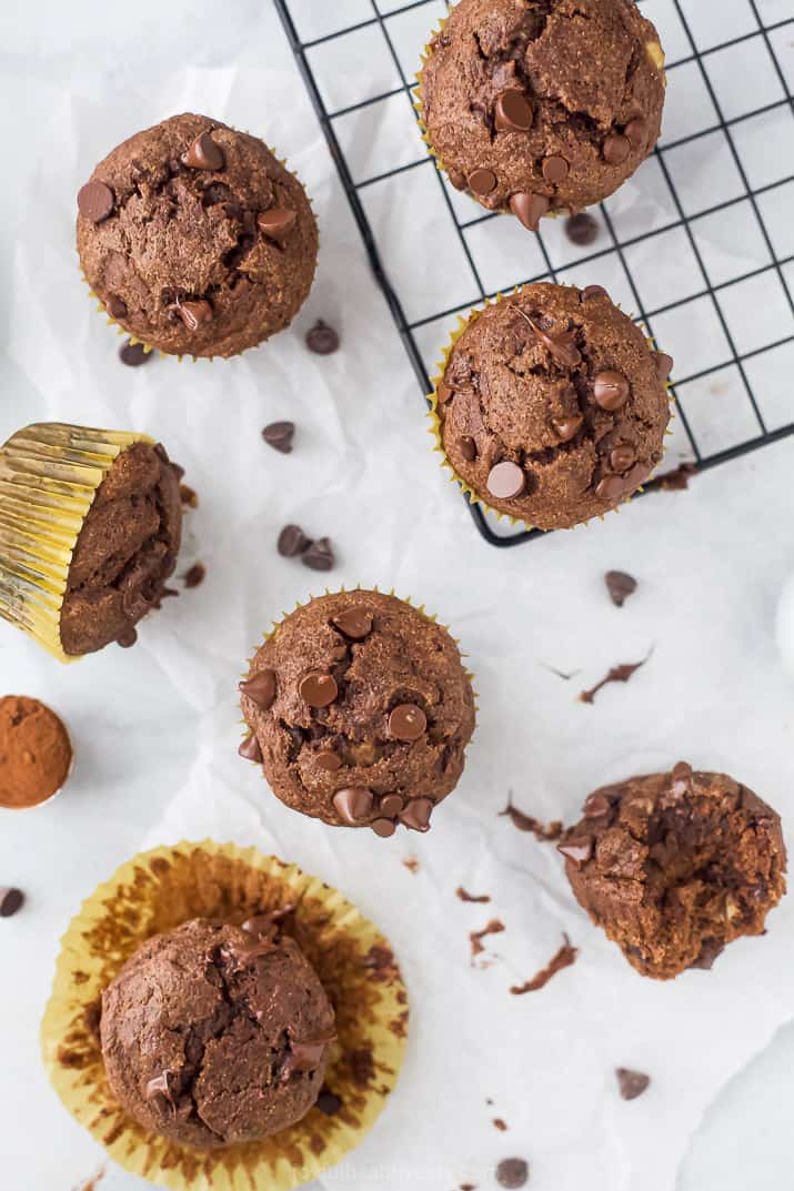
[(0, 447), (0, 617), (62, 662), (72, 555), (114, 461), (148, 435), (42, 422)]

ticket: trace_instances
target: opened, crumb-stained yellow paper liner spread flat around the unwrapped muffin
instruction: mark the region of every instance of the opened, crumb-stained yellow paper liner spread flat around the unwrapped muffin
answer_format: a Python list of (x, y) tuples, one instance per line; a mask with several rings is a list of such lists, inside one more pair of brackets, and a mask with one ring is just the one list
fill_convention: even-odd
[[(259, 1142), (197, 1151), (148, 1133), (114, 1100), (99, 1043), (101, 992), (153, 935), (191, 918), (241, 923), (287, 904), (284, 924), (336, 1012), (325, 1086), (339, 1111), (312, 1108)], [(389, 941), (342, 894), (254, 848), (179, 843), (141, 853), (83, 903), (61, 944), (42, 1053), (69, 1112), (134, 1174), (175, 1191), (290, 1191), (343, 1158), (373, 1125), (405, 1049), (408, 993)]]

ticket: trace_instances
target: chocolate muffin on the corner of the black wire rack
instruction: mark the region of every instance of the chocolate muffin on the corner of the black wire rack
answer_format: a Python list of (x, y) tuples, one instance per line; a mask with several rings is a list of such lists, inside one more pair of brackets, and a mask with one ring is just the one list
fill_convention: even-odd
[(435, 394), (443, 451), (486, 505), (569, 529), (660, 461), (671, 367), (600, 286), (525, 286), (476, 312), (448, 355)]

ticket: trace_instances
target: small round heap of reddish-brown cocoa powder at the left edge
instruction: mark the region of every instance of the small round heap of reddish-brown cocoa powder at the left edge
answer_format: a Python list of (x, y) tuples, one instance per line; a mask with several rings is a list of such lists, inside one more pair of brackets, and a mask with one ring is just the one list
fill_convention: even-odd
[(69, 777), (72, 742), (61, 719), (38, 699), (0, 699), (0, 806), (37, 806)]

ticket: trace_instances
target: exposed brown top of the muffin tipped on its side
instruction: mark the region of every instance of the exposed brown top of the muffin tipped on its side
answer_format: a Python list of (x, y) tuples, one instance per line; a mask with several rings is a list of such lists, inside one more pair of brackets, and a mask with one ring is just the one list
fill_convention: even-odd
[(160, 606), (181, 541), (180, 475), (160, 444), (134, 443), (114, 461), (72, 555), (61, 609), (67, 654), (134, 644), (135, 625)]

